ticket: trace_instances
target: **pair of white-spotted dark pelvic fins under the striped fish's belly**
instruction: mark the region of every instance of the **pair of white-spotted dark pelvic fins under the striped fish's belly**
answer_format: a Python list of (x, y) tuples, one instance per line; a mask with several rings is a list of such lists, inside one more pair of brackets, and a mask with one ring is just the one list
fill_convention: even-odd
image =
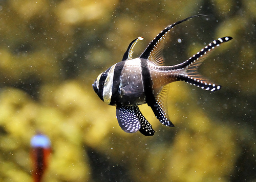
[(151, 124), (142, 115), (138, 106), (121, 106), (116, 108), (116, 118), (119, 126), (126, 133), (140, 131), (145, 136), (154, 135)]

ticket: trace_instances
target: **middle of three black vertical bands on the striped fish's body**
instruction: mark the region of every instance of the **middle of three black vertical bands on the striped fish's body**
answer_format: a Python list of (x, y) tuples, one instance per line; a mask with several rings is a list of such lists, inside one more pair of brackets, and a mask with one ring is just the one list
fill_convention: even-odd
[(120, 76), (121, 72), (123, 70), (123, 66), (126, 62), (121, 61), (116, 64), (115, 69), (114, 69), (114, 76), (113, 76), (113, 86), (112, 86), (112, 96), (111, 96), (111, 101), (110, 105), (119, 105), (119, 93), (118, 89), (120, 86)]

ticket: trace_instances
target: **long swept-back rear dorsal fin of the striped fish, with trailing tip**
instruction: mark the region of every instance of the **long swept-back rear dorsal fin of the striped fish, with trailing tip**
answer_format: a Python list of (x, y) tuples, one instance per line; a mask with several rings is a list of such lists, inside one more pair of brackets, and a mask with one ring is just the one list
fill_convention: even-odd
[(195, 15), (195, 16), (190, 16), (188, 18), (185, 18), (181, 21), (177, 21), (171, 25), (168, 25), (164, 30), (162, 30), (151, 42), (150, 44), (147, 45), (143, 53), (140, 55), (139, 58), (143, 59), (148, 59), (157, 65), (163, 64), (164, 59), (162, 55), (162, 50), (163, 50), (163, 43), (161, 43), (164, 39), (167, 33), (170, 31), (170, 29), (173, 29), (177, 24), (180, 24), (190, 18), (194, 18), (196, 16), (206, 16), (206, 15)]

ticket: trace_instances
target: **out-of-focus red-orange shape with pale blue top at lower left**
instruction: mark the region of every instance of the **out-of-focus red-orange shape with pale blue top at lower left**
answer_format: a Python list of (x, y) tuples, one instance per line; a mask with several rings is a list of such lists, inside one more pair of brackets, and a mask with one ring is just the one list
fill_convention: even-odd
[(31, 138), (31, 159), (33, 162), (33, 181), (40, 182), (48, 167), (51, 154), (51, 141), (46, 135), (36, 134)]

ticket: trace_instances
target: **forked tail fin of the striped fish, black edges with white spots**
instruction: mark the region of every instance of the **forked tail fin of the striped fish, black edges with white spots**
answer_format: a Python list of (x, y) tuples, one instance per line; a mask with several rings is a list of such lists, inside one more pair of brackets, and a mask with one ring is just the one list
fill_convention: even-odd
[(185, 74), (178, 75), (177, 79), (184, 81), (190, 85), (200, 87), (204, 90), (220, 90), (221, 86), (210, 83), (209, 80), (205, 79), (202, 75), (199, 74), (198, 68), (204, 61), (204, 56), (215, 47), (219, 46), (223, 42), (231, 40), (232, 37), (222, 37), (217, 40), (212, 41), (201, 49), (197, 54), (190, 57), (185, 62), (173, 66), (173, 69), (183, 69)]

